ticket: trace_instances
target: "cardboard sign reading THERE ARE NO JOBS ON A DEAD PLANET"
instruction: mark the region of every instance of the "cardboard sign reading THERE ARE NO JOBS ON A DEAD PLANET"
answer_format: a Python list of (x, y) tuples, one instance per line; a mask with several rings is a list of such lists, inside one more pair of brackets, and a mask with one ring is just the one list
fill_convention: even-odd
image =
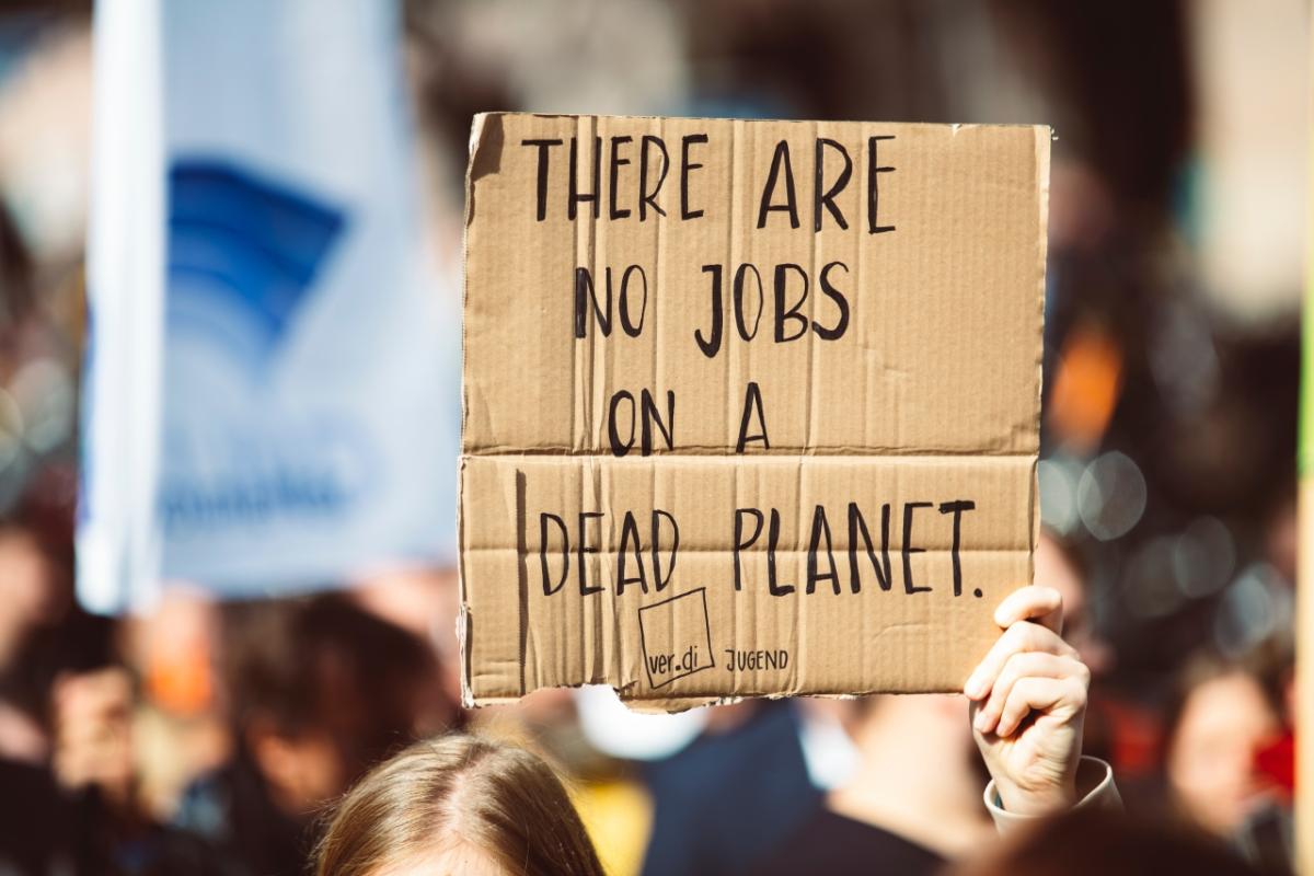
[(959, 690), (1031, 580), (1049, 146), (480, 116), (468, 703)]

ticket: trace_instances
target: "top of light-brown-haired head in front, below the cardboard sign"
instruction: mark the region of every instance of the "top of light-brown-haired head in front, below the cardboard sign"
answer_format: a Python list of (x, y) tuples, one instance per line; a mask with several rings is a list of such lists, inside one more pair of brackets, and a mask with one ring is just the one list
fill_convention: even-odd
[(561, 780), (537, 755), (464, 734), (418, 742), (342, 800), (318, 876), (602, 876)]

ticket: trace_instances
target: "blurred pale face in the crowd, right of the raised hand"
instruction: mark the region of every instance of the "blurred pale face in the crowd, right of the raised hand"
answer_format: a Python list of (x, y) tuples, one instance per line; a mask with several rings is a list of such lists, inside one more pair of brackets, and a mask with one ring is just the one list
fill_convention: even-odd
[(1173, 801), (1229, 835), (1263, 799), (1255, 754), (1281, 730), (1256, 675), (1217, 657), (1190, 661), (1169, 711), (1164, 770)]

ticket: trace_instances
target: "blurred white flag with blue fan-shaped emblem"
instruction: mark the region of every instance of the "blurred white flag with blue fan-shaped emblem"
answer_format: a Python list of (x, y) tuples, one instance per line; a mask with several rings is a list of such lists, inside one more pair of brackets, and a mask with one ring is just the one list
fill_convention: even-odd
[(398, 14), (97, 5), (89, 608), (449, 558), (459, 310), (422, 239)]

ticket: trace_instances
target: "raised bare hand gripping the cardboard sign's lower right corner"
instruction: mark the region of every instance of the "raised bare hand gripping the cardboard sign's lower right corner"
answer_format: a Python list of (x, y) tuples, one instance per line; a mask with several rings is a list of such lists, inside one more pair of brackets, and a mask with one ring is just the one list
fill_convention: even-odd
[(1091, 671), (1059, 636), (1063, 598), (1024, 587), (997, 609), (1004, 634), (963, 686), (972, 735), (1004, 809), (1042, 814), (1076, 800)]

